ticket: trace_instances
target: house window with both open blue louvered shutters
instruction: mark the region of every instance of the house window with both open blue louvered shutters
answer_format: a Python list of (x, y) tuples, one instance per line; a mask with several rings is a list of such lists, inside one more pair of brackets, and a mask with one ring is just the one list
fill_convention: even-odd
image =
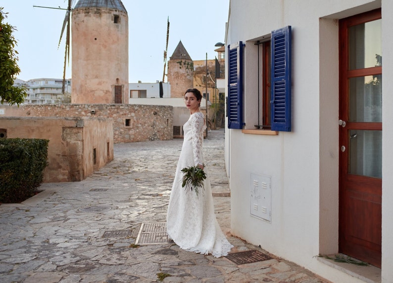
[[(247, 99), (245, 111), (249, 110), (250, 105), (256, 106), (256, 110), (249, 111), (255, 116), (252, 117), (251, 127), (291, 131), (291, 30), (291, 26), (287, 26), (273, 31), (270, 41), (254, 42), (257, 50), (254, 53), (247, 53), (247, 55), (257, 57), (248, 56), (247, 64), (258, 62), (257, 69), (255, 68), (257, 76), (251, 78), (251, 72), (245, 78), (257, 84), (257, 86), (247, 88), (255, 90), (256, 94), (252, 97), (250, 90), (247, 97), (243, 93), (244, 44), (240, 41), (238, 44), (228, 46), (228, 128), (243, 129), (245, 124), (243, 103)], [(252, 69), (252, 66), (247, 65), (247, 67)], [(249, 116), (247, 116), (247, 123), (249, 121)], [(247, 127), (250, 128), (249, 125)]]

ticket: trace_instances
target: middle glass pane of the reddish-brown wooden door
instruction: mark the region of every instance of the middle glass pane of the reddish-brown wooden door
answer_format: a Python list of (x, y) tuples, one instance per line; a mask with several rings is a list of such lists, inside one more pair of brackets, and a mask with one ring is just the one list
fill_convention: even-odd
[(349, 79), (349, 121), (382, 122), (382, 75)]

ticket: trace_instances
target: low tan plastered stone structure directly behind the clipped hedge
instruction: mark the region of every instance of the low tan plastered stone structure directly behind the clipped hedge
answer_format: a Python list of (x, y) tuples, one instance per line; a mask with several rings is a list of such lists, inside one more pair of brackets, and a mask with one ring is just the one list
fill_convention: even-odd
[(113, 160), (113, 120), (0, 117), (6, 138), (48, 139), (44, 182), (82, 181)]

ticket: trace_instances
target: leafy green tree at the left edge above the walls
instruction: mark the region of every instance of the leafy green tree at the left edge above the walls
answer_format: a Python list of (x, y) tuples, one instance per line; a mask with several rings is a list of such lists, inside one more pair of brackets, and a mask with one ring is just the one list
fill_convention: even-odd
[(0, 7), (0, 99), (1, 104), (7, 102), (9, 105), (23, 103), (27, 96), (23, 87), (14, 86), (14, 80), (19, 75), (18, 52), (14, 49), (17, 45), (12, 35), (15, 28), (4, 23), (8, 13), (3, 12)]

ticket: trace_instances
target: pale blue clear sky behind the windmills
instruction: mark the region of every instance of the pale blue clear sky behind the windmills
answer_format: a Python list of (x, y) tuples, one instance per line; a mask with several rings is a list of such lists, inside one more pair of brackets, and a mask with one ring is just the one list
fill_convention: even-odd
[[(75, 6), (77, 0), (74, 0)], [(193, 60), (214, 59), (217, 42), (225, 43), (229, 0), (122, 0), (128, 13), (129, 82), (162, 80), (167, 20), (167, 60), (181, 40)], [(19, 53), (18, 79), (63, 78), (65, 34), (58, 47), (68, 0), (0, 0), (4, 22), (14, 26)], [(72, 49), (71, 49), (72, 56)], [(71, 78), (71, 60), (66, 78)], [(165, 77), (165, 81), (167, 78)]]

